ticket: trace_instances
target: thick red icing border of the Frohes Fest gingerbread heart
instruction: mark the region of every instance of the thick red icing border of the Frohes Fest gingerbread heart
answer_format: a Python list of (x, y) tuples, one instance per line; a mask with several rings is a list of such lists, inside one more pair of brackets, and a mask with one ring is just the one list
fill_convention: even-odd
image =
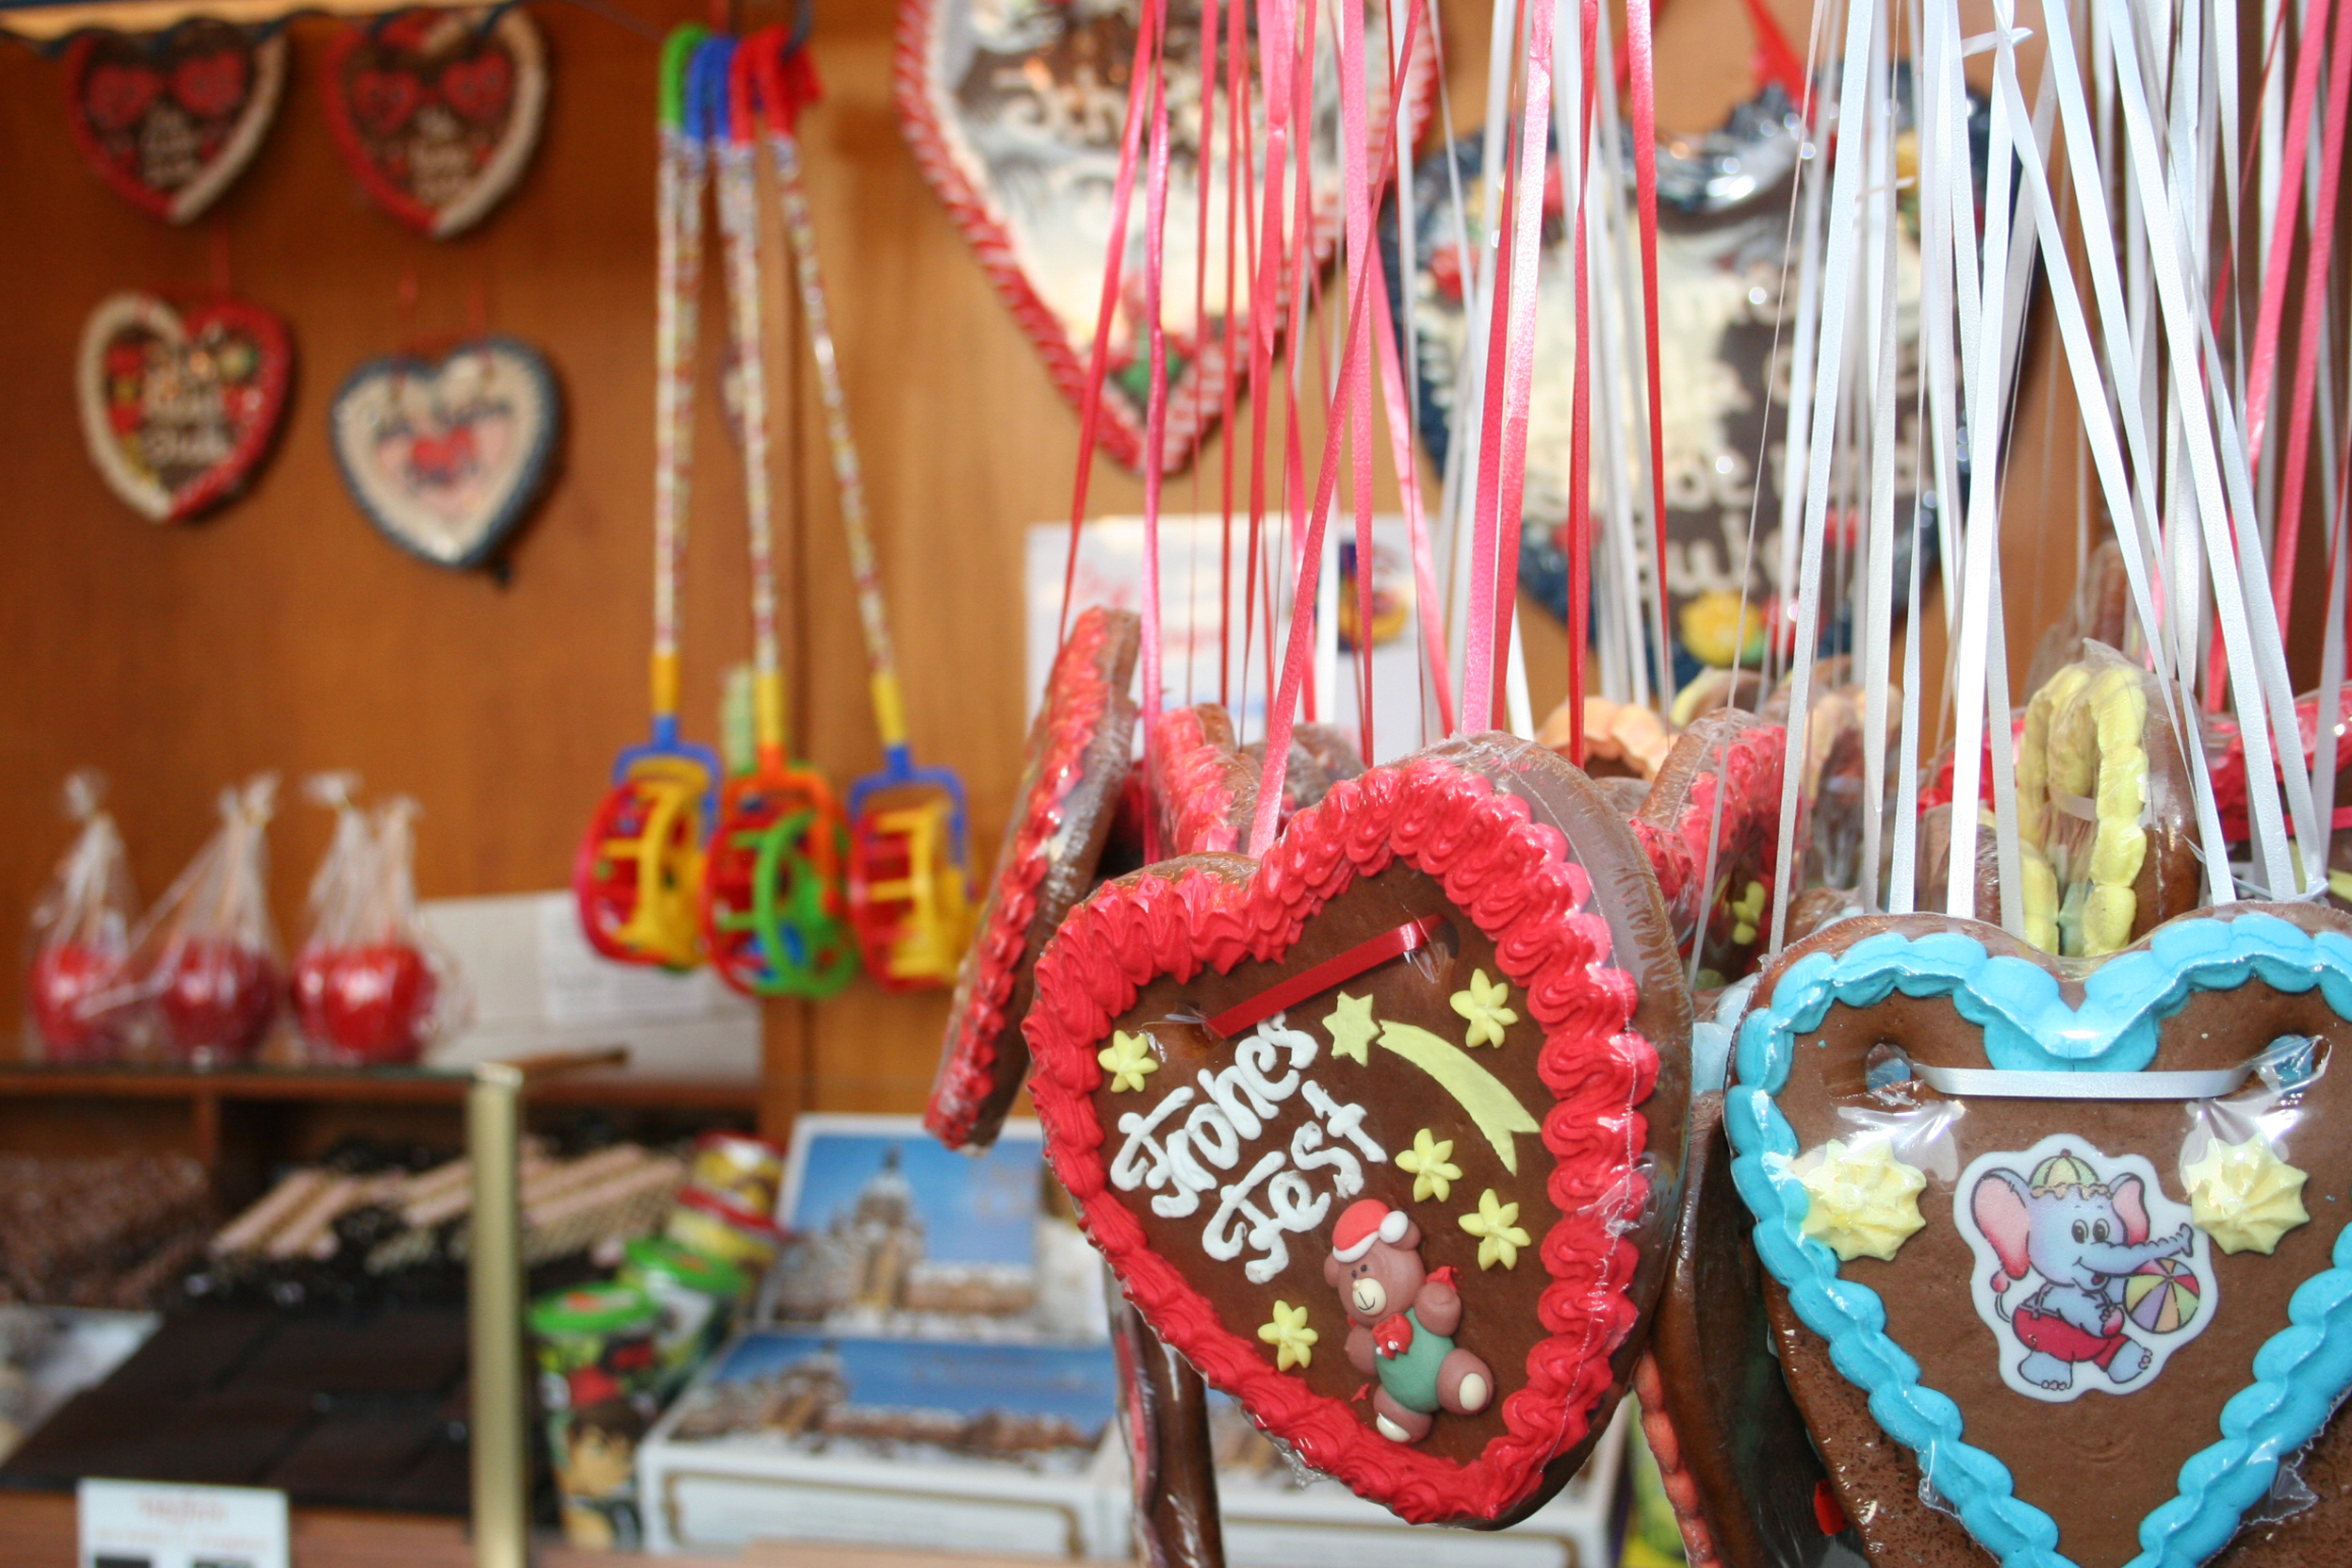
[[(1543, 1237), (1552, 1284), (1541, 1298), (1550, 1338), (1526, 1382), (1503, 1399), (1505, 1434), (1470, 1465), (1392, 1443), (1364, 1418), (1275, 1371), (1256, 1340), (1216, 1309), (1105, 1185), (1103, 1126), (1091, 1095), (1112, 1020), (1162, 973), (1185, 980), (1242, 959), (1277, 961), (1308, 919), (1357, 877), (1404, 860), (1494, 938), (1496, 961), (1526, 992), (1545, 1041), (1538, 1072), (1557, 1095), (1543, 1117), (1562, 1220)], [(1164, 863), (1105, 884), (1070, 912), (1037, 959), (1025, 1034), (1037, 1070), (1030, 1095), (1054, 1171), (1129, 1298), (1209, 1382), (1329, 1472), (1414, 1523), (1505, 1519), (1543, 1483), (1545, 1465), (1581, 1443), (1611, 1389), (1609, 1354), (1639, 1321), (1628, 1295), (1639, 1251), (1611, 1213), (1649, 1201), (1637, 1110), (1658, 1077), (1658, 1048), (1632, 1030), (1635, 976), (1609, 961), (1609, 922), (1590, 910), (1592, 879), (1566, 837), (1524, 799), (1444, 757), (1416, 757), (1336, 785), (1301, 811), (1247, 882), (1232, 863)]]

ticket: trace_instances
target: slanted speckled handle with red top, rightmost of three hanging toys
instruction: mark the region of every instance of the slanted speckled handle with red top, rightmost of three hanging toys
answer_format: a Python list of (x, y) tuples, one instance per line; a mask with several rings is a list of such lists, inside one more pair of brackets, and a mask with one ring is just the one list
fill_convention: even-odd
[(809, 221), (809, 197), (800, 181), (800, 110), (823, 96), (816, 66), (804, 47), (786, 33), (769, 31), (748, 45), (750, 66), (767, 110), (767, 150), (776, 165), (776, 205), (783, 212), (783, 235), (793, 247), (800, 282), (800, 317), (809, 329), (816, 357), (816, 390), (826, 404), (826, 444), (833, 449), (833, 482), (842, 491), (842, 536), (849, 541), (849, 576), (858, 585), (858, 623), (866, 630), (866, 679), (873, 693), (875, 729), (894, 773), (913, 766), (906, 741), (906, 703), (898, 691), (898, 661), (889, 637), (889, 611), (882, 599), (882, 571), (875, 564), (873, 529), (866, 520), (866, 477), (858, 447), (849, 433), (849, 400), (842, 393), (840, 355), (833, 348), (833, 315), (826, 308), (826, 280), (816, 263), (816, 226)]

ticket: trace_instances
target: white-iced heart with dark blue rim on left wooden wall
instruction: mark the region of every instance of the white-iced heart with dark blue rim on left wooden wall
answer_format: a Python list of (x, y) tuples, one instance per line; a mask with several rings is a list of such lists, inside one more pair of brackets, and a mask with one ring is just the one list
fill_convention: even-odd
[(386, 538), (437, 567), (477, 567), (539, 498), (562, 400), (539, 350), (492, 336), (440, 360), (369, 360), (343, 378), (327, 425), (350, 498)]

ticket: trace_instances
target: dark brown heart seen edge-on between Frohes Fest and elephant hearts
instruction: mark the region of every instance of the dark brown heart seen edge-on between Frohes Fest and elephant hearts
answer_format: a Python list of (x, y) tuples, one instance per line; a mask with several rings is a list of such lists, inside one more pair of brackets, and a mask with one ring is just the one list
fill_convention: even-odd
[[(1858, 1563), (1860, 1540), (1820, 1507), (1828, 1472), (1780, 1380), (1764, 1316), (1769, 1281), (1748, 1244), (1752, 1218), (1731, 1187), (1722, 1117), (1722, 1093), (1691, 1098), (1682, 1234), (1649, 1333), (1677, 1469), (1696, 1493), (1677, 1500), (1689, 1512), (1684, 1535), (1703, 1530), (1726, 1568)], [(1691, 1552), (1691, 1561), (1708, 1559)]]

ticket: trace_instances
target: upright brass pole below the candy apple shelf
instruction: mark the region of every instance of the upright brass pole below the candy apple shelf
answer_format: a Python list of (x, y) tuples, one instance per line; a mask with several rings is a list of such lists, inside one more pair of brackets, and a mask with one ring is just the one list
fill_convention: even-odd
[(466, 1091), (473, 1239), (466, 1316), (473, 1338), (473, 1561), (529, 1568), (529, 1389), (522, 1378), (522, 1070), (482, 1063)]

